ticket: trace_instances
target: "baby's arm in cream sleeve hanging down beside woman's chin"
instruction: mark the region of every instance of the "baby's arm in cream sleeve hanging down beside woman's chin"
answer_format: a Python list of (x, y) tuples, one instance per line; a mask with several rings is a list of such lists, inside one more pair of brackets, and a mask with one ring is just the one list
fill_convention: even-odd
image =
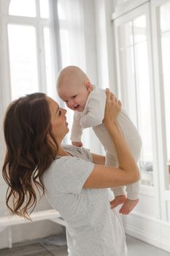
[(74, 119), (72, 124), (72, 133), (71, 140), (72, 145), (82, 146), (81, 137), (82, 137), (82, 127), (80, 126), (80, 113), (74, 112)]

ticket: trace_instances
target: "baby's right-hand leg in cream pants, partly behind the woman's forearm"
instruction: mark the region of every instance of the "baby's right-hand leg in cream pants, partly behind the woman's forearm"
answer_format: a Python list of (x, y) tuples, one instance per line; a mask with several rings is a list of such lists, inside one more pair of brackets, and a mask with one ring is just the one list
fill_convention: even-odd
[[(137, 162), (142, 148), (142, 140), (139, 136), (139, 132), (124, 111), (119, 118), (117, 118), (117, 121), (123, 132), (125, 140), (131, 149), (134, 159)], [(139, 181), (127, 185), (126, 192), (127, 200), (123, 204), (122, 208), (120, 208), (121, 214), (129, 214), (139, 202)]]

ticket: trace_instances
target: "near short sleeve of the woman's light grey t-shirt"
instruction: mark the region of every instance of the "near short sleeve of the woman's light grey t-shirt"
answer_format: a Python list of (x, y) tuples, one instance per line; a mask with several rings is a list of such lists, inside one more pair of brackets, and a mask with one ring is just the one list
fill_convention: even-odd
[(63, 193), (80, 194), (94, 164), (77, 157), (61, 157), (53, 163), (55, 189)]

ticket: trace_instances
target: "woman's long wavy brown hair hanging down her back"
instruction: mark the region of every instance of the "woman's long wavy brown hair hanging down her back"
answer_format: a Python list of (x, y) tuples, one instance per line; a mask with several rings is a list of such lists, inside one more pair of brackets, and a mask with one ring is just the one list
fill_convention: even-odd
[(30, 219), (37, 202), (36, 191), (41, 196), (45, 193), (42, 175), (58, 153), (45, 94), (28, 94), (9, 105), (4, 139), (7, 153), (2, 175), (8, 184), (7, 207), (12, 214)]

